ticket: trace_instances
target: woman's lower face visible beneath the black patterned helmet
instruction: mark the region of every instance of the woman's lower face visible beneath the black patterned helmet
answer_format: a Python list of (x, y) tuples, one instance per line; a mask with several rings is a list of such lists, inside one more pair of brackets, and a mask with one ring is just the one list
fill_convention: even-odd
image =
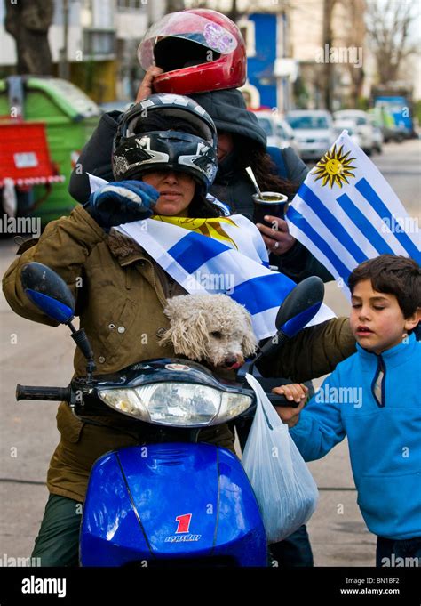
[(189, 174), (155, 171), (143, 176), (143, 181), (158, 190), (160, 196), (154, 206), (155, 214), (187, 217), (188, 206), (195, 195), (195, 180)]

